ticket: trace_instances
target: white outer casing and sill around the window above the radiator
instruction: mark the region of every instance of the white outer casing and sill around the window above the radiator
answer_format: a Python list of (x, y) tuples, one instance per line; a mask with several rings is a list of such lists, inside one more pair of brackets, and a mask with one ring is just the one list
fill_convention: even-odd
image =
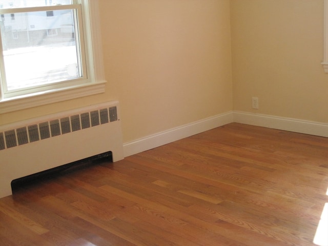
[(105, 92), (107, 81), (101, 50), (98, 0), (78, 0), (78, 3), (84, 16), (84, 36), (80, 38), (85, 39), (90, 83), (11, 98), (1, 97), (0, 114)]

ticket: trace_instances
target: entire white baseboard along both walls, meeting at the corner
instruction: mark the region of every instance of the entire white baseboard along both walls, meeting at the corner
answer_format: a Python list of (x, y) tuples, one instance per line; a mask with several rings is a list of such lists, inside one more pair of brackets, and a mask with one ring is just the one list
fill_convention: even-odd
[(328, 137), (328, 124), (271, 115), (231, 111), (134, 141), (126, 142), (123, 145), (124, 155), (125, 157), (134, 155), (232, 122)]

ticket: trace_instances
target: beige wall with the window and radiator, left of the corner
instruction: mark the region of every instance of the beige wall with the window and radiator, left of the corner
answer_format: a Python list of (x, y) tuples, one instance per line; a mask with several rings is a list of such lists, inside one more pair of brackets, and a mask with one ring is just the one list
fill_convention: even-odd
[(232, 110), (228, 0), (100, 0), (106, 93), (0, 124), (118, 99), (124, 142)]

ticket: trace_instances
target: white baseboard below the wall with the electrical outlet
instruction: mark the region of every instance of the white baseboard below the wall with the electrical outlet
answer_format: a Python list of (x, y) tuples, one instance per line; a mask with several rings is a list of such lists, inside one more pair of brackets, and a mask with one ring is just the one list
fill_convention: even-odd
[(308, 120), (234, 111), (233, 122), (328, 137), (328, 124)]

